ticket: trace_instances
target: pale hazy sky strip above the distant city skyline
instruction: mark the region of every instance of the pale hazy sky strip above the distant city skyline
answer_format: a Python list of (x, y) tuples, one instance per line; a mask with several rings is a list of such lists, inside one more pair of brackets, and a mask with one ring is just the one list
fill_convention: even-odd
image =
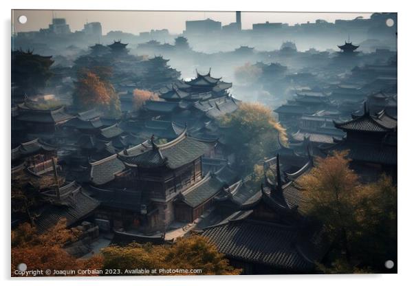
[[(17, 19), (20, 15), (28, 17), (24, 25)], [(56, 18), (65, 18), (72, 32), (82, 30), (88, 22), (100, 22), (102, 33), (121, 30), (132, 34), (148, 32), (151, 29), (168, 29), (171, 33), (180, 34), (185, 30), (186, 20), (210, 18), (221, 21), (222, 25), (235, 22), (235, 12), (167, 12), (167, 11), (87, 11), (87, 10), (55, 10)], [(314, 22), (324, 19), (334, 22), (336, 19), (369, 18), (371, 13), (310, 13), (310, 12), (242, 12), (243, 29), (251, 29), (252, 23), (265, 21), (281, 22), (294, 25), (296, 23)], [(14, 10), (12, 15), (14, 32), (28, 32), (47, 28), (52, 22), (52, 10)]]

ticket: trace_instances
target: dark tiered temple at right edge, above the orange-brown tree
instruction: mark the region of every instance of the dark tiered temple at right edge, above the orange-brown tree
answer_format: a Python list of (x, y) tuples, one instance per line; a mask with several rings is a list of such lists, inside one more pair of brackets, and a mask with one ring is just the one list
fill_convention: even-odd
[(347, 122), (334, 122), (346, 132), (334, 146), (321, 148), (323, 153), (348, 151), (351, 168), (363, 181), (375, 181), (382, 173), (397, 178), (397, 119), (381, 111), (371, 115), (367, 107), (362, 115)]

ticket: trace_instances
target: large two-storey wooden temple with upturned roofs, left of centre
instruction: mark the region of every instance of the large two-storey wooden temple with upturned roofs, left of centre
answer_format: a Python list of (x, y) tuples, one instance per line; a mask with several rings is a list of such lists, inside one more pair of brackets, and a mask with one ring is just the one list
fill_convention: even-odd
[(156, 234), (173, 221), (193, 222), (225, 186), (219, 173), (202, 170), (213, 142), (187, 135), (156, 144), (154, 137), (91, 163), (91, 196), (102, 203), (97, 217), (116, 230)]

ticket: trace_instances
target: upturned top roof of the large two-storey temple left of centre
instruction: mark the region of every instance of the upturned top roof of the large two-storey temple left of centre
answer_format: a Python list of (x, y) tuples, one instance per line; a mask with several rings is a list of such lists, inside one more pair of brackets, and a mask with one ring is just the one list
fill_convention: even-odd
[(151, 148), (140, 154), (118, 154), (118, 157), (127, 166), (179, 168), (201, 157), (209, 148), (206, 142), (188, 137), (186, 132), (184, 129), (181, 135), (166, 144), (157, 145), (151, 140)]

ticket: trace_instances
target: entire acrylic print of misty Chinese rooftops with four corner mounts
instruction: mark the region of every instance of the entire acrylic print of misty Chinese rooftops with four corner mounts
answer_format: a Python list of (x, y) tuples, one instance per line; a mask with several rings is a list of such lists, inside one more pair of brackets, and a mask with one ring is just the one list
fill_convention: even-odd
[(12, 18), (12, 276), (397, 272), (396, 13)]

